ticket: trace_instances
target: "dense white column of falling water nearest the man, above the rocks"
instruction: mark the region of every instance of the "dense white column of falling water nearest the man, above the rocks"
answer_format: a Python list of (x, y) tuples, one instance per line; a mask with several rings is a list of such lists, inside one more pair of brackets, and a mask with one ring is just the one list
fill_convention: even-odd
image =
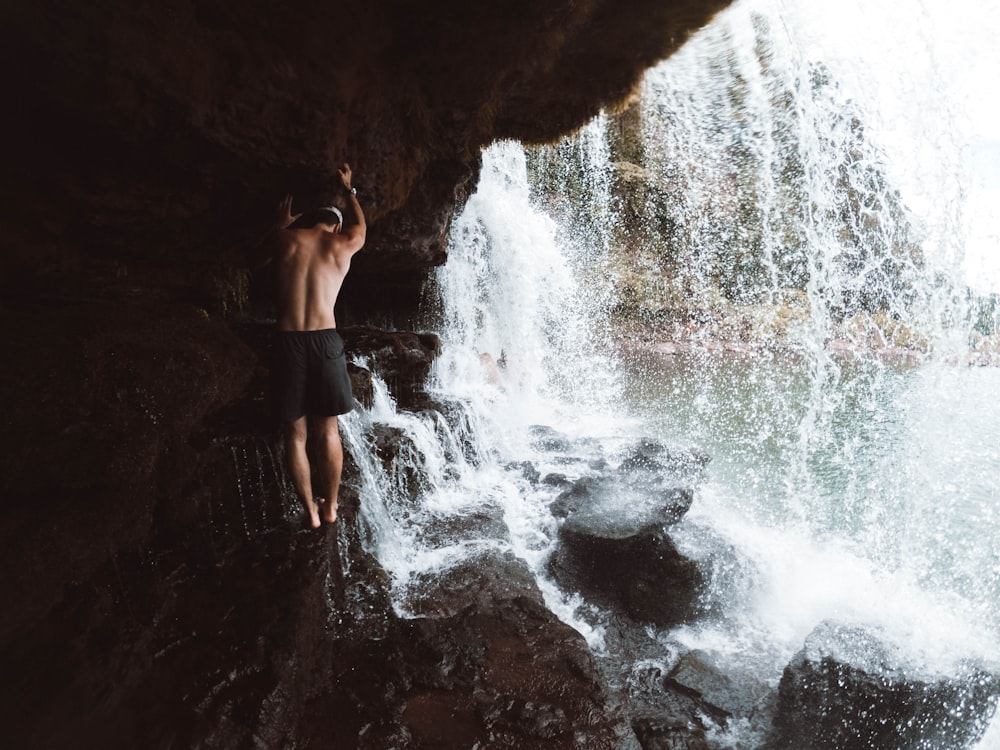
[[(600, 143), (600, 128), (592, 124), (583, 137)], [(598, 203), (594, 215), (606, 217), (607, 199)], [(600, 256), (608, 236), (589, 232), (581, 240), (589, 243), (587, 255)], [(524, 149), (515, 143), (491, 147), (479, 188), (455, 221), (449, 262), (437, 279), (446, 300), (445, 353), (435, 370), (440, 389), (473, 399), (490, 394), (482, 390), (487, 354), (502, 362), (504, 387), (517, 393), (508, 403), (518, 412), (515, 423), (539, 420), (555, 404), (562, 404), (566, 416), (579, 411), (580, 402), (606, 401), (602, 394), (613, 381), (608, 361), (599, 356), (595, 315), (604, 290), (578, 285), (572, 256), (560, 240), (559, 226), (533, 205)]]

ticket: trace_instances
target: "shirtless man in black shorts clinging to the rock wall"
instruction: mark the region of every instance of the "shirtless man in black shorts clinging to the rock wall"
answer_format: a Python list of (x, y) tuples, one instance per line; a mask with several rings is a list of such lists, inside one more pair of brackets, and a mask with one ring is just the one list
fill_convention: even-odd
[[(271, 398), (282, 425), (285, 455), (295, 490), (310, 525), (337, 520), (337, 495), (344, 462), (337, 417), (354, 406), (344, 343), (337, 333), (333, 306), (365, 244), (365, 216), (351, 187), (351, 167), (338, 170), (347, 195), (350, 225), (334, 207), (292, 215), (292, 197), (278, 208), (278, 222), (267, 250), (277, 279), (277, 333), (271, 369)], [(353, 214), (353, 216), (350, 216)], [(314, 498), (306, 455), (308, 418), (318, 441), (318, 462), (325, 495)]]

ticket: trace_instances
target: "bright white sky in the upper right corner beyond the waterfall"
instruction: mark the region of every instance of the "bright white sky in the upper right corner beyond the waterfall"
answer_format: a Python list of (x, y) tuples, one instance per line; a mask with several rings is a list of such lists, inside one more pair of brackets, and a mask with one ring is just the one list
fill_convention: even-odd
[(869, 126), (904, 201), (960, 230), (969, 283), (1000, 291), (1000, 1), (750, 1), (881, 113)]

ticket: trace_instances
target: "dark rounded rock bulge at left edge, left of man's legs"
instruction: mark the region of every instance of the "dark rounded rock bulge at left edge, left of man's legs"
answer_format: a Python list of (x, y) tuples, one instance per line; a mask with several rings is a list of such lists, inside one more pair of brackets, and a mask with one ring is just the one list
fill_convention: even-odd
[(3, 309), (0, 339), (0, 593), (16, 603), (2, 639), (143, 543), (162, 497), (186, 487), (190, 435), (240, 397), (254, 356), (204, 311), (162, 300)]

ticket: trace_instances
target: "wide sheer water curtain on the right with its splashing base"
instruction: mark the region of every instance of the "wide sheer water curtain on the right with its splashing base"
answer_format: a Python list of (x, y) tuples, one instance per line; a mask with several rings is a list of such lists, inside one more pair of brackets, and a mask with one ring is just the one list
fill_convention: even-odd
[[(728, 625), (685, 637), (777, 673), (839, 617), (948, 672), (1000, 640), (998, 485), (983, 474), (1000, 459), (983, 399), (997, 379), (954, 364), (971, 322), (961, 190), (908, 210), (880, 113), (787, 19), (738, 3), (652, 71), (632, 149), (660, 244), (620, 252), (661, 282), (622, 284), (644, 322), (695, 342), (659, 372), (636, 366), (634, 408), (715, 456), (692, 526), (758, 571), (754, 591), (728, 592)], [(710, 353), (726, 339), (744, 353)]]

